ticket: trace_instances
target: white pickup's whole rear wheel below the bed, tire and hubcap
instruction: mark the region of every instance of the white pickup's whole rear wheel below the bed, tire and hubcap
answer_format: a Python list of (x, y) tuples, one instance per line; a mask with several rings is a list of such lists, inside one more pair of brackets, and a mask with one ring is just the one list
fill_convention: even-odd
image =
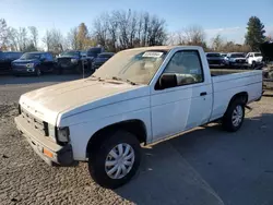
[(223, 128), (228, 132), (236, 132), (240, 129), (245, 119), (245, 102), (241, 99), (235, 99), (227, 108), (223, 117)]

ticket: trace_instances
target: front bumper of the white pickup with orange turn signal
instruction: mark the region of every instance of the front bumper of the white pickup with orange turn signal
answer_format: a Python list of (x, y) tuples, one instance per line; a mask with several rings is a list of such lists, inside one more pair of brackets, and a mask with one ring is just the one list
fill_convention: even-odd
[[(23, 133), (27, 142), (39, 157), (50, 166), (74, 166), (72, 146), (60, 146), (34, 130), (22, 116), (15, 118), (17, 130)], [(48, 155), (50, 154), (50, 156)]]

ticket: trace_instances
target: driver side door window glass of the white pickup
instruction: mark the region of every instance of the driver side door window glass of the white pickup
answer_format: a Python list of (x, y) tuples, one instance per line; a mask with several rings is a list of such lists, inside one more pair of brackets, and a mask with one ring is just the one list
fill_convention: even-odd
[(164, 73), (176, 74), (178, 86), (201, 83), (203, 69), (198, 50), (176, 52), (168, 62)]

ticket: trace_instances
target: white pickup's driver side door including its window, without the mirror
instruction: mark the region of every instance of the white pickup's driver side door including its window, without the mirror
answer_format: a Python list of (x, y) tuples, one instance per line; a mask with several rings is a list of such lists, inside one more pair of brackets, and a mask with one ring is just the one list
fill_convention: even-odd
[(203, 124), (211, 114), (212, 86), (204, 81), (198, 50), (181, 50), (174, 53), (164, 73), (176, 74), (178, 84), (152, 91), (154, 142)]

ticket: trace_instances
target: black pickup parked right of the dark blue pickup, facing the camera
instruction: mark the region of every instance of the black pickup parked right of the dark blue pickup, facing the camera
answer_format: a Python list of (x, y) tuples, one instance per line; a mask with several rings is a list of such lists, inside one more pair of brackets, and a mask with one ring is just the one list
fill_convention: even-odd
[(63, 72), (76, 72), (82, 73), (85, 67), (86, 57), (82, 55), (82, 51), (71, 50), (64, 51), (57, 58), (58, 73)]

